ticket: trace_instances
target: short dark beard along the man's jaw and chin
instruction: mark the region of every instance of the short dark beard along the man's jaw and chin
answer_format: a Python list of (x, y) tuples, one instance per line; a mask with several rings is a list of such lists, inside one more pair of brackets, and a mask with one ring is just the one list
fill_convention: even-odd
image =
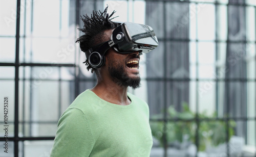
[[(118, 67), (118, 68), (117, 68)], [(140, 77), (129, 77), (122, 64), (114, 65), (113, 62), (109, 66), (109, 73), (119, 86), (132, 87), (133, 89), (140, 87)]]

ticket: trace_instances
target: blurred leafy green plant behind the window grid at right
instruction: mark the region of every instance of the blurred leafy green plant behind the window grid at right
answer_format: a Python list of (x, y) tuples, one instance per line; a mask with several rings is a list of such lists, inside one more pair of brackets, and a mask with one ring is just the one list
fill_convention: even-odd
[[(198, 122), (196, 116), (198, 117)], [(164, 133), (168, 145), (185, 142), (183, 141), (184, 136), (186, 136), (185, 139), (188, 142), (196, 143), (196, 132), (198, 128), (198, 150), (204, 151), (207, 144), (217, 146), (226, 141), (227, 124), (223, 120), (214, 119), (216, 117), (216, 113), (210, 116), (208, 116), (206, 112), (196, 115), (189, 110), (187, 103), (183, 103), (182, 112), (177, 112), (173, 106), (170, 106), (167, 109), (166, 118), (171, 119), (172, 121), (168, 120), (165, 123), (163, 121), (158, 121), (159, 119), (163, 119), (163, 114), (152, 116), (152, 135), (159, 140), (161, 146), (164, 145)], [(229, 140), (230, 137), (234, 135), (233, 127), (236, 126), (236, 122), (229, 120), (228, 125)]]

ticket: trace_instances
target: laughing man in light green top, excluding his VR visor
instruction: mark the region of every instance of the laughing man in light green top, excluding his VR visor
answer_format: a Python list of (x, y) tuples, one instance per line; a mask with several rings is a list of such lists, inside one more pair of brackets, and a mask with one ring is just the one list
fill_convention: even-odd
[(86, 53), (87, 69), (96, 73), (97, 84), (81, 93), (60, 117), (51, 156), (150, 155), (153, 142), (148, 106), (127, 93), (128, 86), (140, 86), (143, 50), (140, 46), (129, 52), (114, 48), (124, 42), (124, 33), (118, 32), (111, 40), (120, 23), (111, 21), (115, 12), (109, 15), (107, 9), (82, 18), (84, 28), (79, 30), (84, 35), (77, 42)]

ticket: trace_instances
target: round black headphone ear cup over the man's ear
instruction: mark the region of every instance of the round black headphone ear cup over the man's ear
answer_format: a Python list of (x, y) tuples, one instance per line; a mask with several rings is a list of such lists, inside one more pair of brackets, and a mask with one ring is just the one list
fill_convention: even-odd
[(93, 52), (90, 54), (88, 61), (93, 68), (97, 69), (104, 65), (105, 56), (101, 56), (98, 52)]

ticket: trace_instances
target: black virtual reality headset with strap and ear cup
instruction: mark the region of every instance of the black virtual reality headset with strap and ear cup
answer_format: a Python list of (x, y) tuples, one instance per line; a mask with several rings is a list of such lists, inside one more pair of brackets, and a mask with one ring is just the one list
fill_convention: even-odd
[(100, 68), (105, 63), (105, 53), (113, 47), (118, 53), (130, 54), (134, 51), (149, 53), (158, 46), (154, 30), (144, 24), (124, 22), (113, 31), (109, 41), (100, 43), (85, 51), (89, 64)]

